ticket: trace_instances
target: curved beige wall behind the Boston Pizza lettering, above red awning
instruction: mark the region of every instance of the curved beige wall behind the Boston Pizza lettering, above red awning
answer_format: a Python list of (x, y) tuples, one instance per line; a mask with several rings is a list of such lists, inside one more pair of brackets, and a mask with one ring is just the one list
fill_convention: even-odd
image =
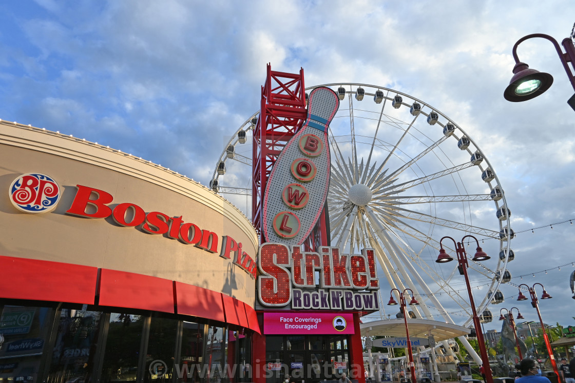
[[(193, 164), (190, 164), (192, 167)], [(44, 173), (60, 185), (55, 210), (26, 214), (10, 202), (10, 184), (24, 173)], [(217, 253), (117, 225), (112, 217), (66, 214), (76, 185), (101, 189), (114, 207), (133, 203), (218, 235)], [(258, 236), (250, 220), (203, 185), (105, 146), (51, 131), (0, 122), (0, 256), (122, 270), (222, 292), (254, 307), (255, 280), (219, 256), (223, 236), (241, 242), (255, 260)], [(73, 288), (71, 286), (71, 288)]]

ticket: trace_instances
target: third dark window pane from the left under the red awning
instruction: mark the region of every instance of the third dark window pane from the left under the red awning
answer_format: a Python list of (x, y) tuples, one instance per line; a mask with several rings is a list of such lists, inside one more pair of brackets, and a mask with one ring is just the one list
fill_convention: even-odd
[(142, 315), (110, 314), (102, 382), (136, 380), (144, 320)]

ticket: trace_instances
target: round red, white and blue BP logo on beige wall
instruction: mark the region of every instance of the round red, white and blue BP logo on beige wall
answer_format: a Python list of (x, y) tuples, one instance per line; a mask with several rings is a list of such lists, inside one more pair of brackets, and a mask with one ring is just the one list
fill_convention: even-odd
[(60, 199), (60, 187), (52, 177), (41, 173), (27, 173), (10, 185), (10, 202), (26, 213), (53, 210)]

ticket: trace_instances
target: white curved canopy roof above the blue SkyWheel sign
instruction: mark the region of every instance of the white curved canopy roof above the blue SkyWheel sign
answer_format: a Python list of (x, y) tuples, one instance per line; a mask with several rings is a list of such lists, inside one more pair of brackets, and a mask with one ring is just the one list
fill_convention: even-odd
[[(469, 328), (438, 322), (428, 319), (408, 319), (409, 336), (427, 338), (430, 334), (434, 336), (435, 342), (467, 335), (471, 332)], [(362, 336), (405, 336), (405, 322), (403, 319), (374, 320), (373, 322), (359, 325)], [(575, 339), (575, 338), (574, 338)]]

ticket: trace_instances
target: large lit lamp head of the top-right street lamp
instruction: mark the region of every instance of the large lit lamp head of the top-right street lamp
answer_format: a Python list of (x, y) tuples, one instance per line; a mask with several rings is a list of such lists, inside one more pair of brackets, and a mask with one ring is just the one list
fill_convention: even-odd
[(545, 92), (553, 84), (549, 73), (530, 69), (526, 63), (517, 63), (513, 67), (513, 77), (503, 96), (511, 102), (530, 100)]

